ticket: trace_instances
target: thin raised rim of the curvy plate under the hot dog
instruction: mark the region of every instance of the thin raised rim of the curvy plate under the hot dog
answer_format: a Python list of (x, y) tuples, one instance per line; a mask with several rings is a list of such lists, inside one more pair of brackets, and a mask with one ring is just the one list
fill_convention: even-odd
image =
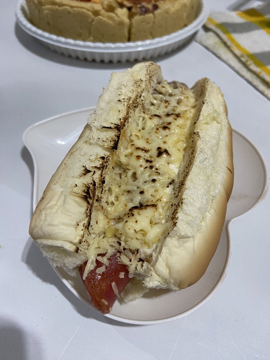
[[(39, 122), (36, 122), (34, 124), (32, 124), (31, 126), (29, 126), (23, 133), (23, 143), (26, 146), (26, 148), (28, 149), (28, 151), (30, 152), (32, 159), (33, 159), (33, 163), (34, 163), (34, 179), (33, 179), (33, 203), (32, 203), (32, 207), (33, 207), (33, 211), (35, 210), (36, 207), (36, 199), (37, 201), (39, 200), (39, 196), (37, 194), (37, 182), (38, 182), (38, 171), (37, 169), (37, 159), (35, 157), (35, 154), (33, 152), (33, 150), (31, 149), (31, 146), (28, 144), (27, 142), (27, 136), (29, 134), (29, 132), (37, 126), (42, 125), (42, 123), (45, 122), (50, 122), (50, 121), (56, 121), (58, 118), (64, 117), (64, 116), (69, 116), (69, 115), (74, 115), (80, 112), (93, 112), (95, 109), (95, 106), (92, 107), (87, 107), (87, 108), (83, 108), (83, 109), (78, 109), (75, 111), (69, 111), (66, 113), (62, 113), (62, 114), (58, 114), (56, 116), (52, 116), (49, 118), (46, 118), (44, 120), (41, 120)], [(123, 318), (121, 316), (118, 315), (114, 315), (114, 314), (103, 314), (105, 317), (112, 319), (112, 320), (116, 320), (116, 321), (120, 321), (122, 323), (126, 323), (126, 324), (134, 324), (134, 325), (153, 325), (153, 324), (160, 324), (160, 323), (165, 323), (168, 321), (172, 321), (172, 320), (176, 320), (176, 319), (180, 319), (183, 316), (186, 316), (188, 314), (190, 314), (191, 312), (197, 310), (199, 307), (201, 307), (205, 302), (207, 302), (215, 293), (216, 291), (219, 289), (219, 287), (221, 286), (222, 282), (224, 281), (227, 273), (228, 273), (228, 268), (229, 268), (229, 263), (230, 263), (230, 258), (231, 258), (231, 248), (232, 248), (232, 241), (231, 241), (231, 231), (230, 231), (230, 226), (232, 224), (232, 222), (234, 222), (236, 219), (239, 219), (240, 217), (243, 217), (244, 215), (246, 215), (249, 211), (251, 211), (254, 207), (257, 206), (258, 203), (260, 203), (267, 191), (268, 191), (268, 187), (269, 187), (269, 180), (268, 180), (268, 173), (267, 173), (267, 167), (266, 164), (264, 162), (263, 157), (261, 156), (261, 153), (259, 152), (259, 150), (256, 148), (256, 146), (246, 137), (244, 136), (241, 132), (239, 132), (238, 130), (232, 129), (233, 132), (235, 132), (235, 134), (239, 135), (240, 137), (242, 137), (244, 140), (247, 141), (247, 143), (255, 150), (256, 154), (258, 155), (261, 164), (262, 164), (262, 168), (264, 171), (264, 185), (261, 191), (260, 196), (258, 197), (257, 201), (255, 204), (253, 204), (248, 210), (246, 210), (245, 212), (243, 212), (242, 214), (235, 216), (231, 219), (227, 219), (225, 220), (224, 223), (224, 228), (226, 230), (226, 237), (227, 237), (227, 254), (226, 254), (226, 258), (225, 258), (225, 263), (224, 263), (224, 267), (222, 269), (221, 275), (219, 277), (219, 279), (217, 280), (215, 286), (211, 289), (211, 291), (201, 300), (199, 301), (196, 305), (190, 307), (190, 309), (181, 312), (180, 314), (177, 315), (173, 315), (170, 317), (166, 317), (166, 318), (162, 318), (162, 319), (156, 319), (156, 320), (134, 320), (134, 319), (128, 319), (128, 318)], [(62, 271), (60, 269), (55, 268), (54, 266), (52, 266), (53, 269), (55, 270), (55, 272), (57, 273), (57, 275), (59, 276), (59, 278), (62, 280), (62, 282), (68, 287), (68, 289), (75, 294), (75, 296), (77, 298), (79, 298), (82, 302), (84, 302), (87, 306), (89, 306), (91, 309), (93, 309), (94, 311), (98, 312), (89, 301), (87, 301), (73, 286), (71, 283), (69, 283), (68, 279), (65, 278), (62, 274)], [(100, 314), (100, 312), (98, 312), (98, 314)]]

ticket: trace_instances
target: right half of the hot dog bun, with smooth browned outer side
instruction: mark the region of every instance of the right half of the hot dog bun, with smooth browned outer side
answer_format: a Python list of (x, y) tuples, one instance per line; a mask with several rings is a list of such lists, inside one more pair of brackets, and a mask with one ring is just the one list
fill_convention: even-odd
[[(199, 80), (194, 87), (202, 92), (203, 99), (195, 126), (198, 139), (194, 164), (186, 179), (177, 224), (148, 266), (149, 275), (143, 281), (147, 287), (179, 290), (203, 276), (219, 243), (233, 188), (232, 132), (223, 95), (208, 79)], [(203, 216), (199, 211), (193, 214), (204, 206), (200, 198), (206, 199)], [(193, 215), (195, 220), (201, 216), (199, 224)]]

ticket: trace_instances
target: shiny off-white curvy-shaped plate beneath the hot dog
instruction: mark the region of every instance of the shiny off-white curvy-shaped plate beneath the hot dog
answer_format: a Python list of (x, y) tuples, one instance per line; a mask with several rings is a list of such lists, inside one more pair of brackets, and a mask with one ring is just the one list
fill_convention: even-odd
[[(35, 168), (33, 208), (36, 207), (51, 175), (80, 135), (94, 108), (62, 114), (29, 127), (23, 141)], [(217, 251), (203, 277), (187, 289), (171, 292), (153, 289), (141, 299), (128, 304), (117, 301), (108, 318), (131, 324), (155, 324), (189, 314), (206, 302), (224, 280), (230, 255), (230, 223), (251, 210), (267, 191), (267, 171), (258, 150), (243, 135), (233, 131), (235, 180), (228, 203), (226, 221)], [(56, 270), (67, 287), (90, 307), (80, 277)]]

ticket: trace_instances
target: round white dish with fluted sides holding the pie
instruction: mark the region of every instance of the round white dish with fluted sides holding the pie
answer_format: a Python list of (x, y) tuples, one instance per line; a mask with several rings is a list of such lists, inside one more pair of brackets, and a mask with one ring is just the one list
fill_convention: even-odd
[(100, 42), (66, 39), (40, 30), (28, 20), (25, 0), (19, 0), (16, 10), (19, 26), (28, 34), (39, 39), (42, 44), (51, 50), (72, 58), (88, 61), (95, 60), (96, 62), (104, 61), (105, 63), (109, 61), (141, 61), (170, 53), (184, 45), (202, 27), (207, 19), (207, 15), (206, 0), (201, 0), (201, 12), (198, 17), (182, 30), (152, 40), (103, 44)]

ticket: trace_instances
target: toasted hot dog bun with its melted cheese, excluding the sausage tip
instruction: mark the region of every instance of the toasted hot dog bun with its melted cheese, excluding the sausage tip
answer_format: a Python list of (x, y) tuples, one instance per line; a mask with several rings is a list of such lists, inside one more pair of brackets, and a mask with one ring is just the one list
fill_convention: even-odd
[[(87, 275), (99, 254), (109, 249), (106, 263), (117, 249), (139, 285), (179, 290), (206, 271), (232, 186), (220, 89), (206, 78), (191, 90), (169, 84), (159, 66), (140, 63), (112, 74), (46, 187), (30, 235), (69, 274), (88, 261)], [(125, 297), (134, 300), (142, 292), (130, 287)]]

